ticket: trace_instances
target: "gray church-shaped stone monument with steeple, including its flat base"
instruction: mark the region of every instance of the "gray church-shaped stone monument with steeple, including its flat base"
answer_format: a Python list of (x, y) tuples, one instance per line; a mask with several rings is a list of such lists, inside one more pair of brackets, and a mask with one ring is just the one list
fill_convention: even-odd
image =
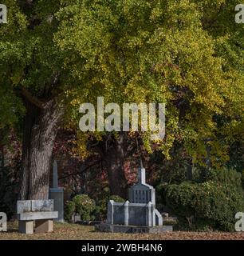
[(138, 182), (129, 189), (128, 199), (126, 202), (110, 200), (107, 222), (96, 225), (96, 230), (124, 233), (172, 231), (172, 226), (163, 226), (163, 217), (155, 209), (155, 189), (146, 183), (142, 162), (138, 169)]

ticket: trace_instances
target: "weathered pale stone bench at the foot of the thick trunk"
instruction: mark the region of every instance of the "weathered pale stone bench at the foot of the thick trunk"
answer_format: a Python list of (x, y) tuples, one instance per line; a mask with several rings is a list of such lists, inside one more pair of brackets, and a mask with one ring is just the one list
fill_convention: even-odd
[(35, 232), (52, 232), (53, 219), (58, 217), (58, 212), (53, 211), (52, 200), (24, 200), (17, 202), (18, 230), (23, 234)]

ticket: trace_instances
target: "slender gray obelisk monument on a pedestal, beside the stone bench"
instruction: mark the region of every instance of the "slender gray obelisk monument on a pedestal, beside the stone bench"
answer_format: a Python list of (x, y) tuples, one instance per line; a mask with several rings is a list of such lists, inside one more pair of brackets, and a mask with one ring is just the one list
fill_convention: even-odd
[(64, 188), (58, 186), (57, 162), (53, 162), (53, 187), (49, 190), (49, 198), (54, 201), (54, 210), (58, 212), (56, 222), (64, 222)]

